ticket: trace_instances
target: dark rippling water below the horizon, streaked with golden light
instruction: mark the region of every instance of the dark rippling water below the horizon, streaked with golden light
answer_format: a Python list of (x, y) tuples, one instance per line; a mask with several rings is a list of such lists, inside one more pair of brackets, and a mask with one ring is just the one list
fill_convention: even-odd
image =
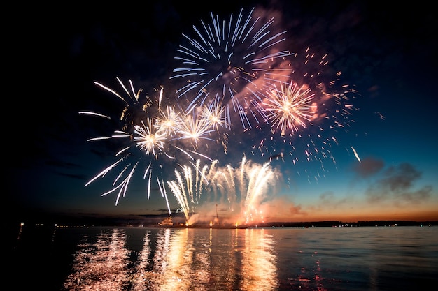
[[(9, 290), (419, 290), (438, 227), (22, 227)], [(4, 262), (4, 261), (3, 261)]]

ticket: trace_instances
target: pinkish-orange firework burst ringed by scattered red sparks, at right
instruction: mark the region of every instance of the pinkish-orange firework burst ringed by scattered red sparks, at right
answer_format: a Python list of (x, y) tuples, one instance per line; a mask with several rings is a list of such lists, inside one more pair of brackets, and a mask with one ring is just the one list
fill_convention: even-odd
[[(327, 54), (318, 57), (310, 48), (290, 62), (293, 74), (283, 81), (267, 82), (262, 93), (266, 124), (257, 126), (264, 135), (254, 140), (253, 149), (269, 160), (281, 158), (285, 164), (317, 163), (318, 170), (306, 171), (309, 181), (324, 176), (325, 161), (336, 167), (332, 149), (339, 146), (336, 134), (348, 132), (353, 99), (357, 93), (343, 84), (341, 72), (327, 67)], [(348, 147), (349, 148), (349, 147)]]

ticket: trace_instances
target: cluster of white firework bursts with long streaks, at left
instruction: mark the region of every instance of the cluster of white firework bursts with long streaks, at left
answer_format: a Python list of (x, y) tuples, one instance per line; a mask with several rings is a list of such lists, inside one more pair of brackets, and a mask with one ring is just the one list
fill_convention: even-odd
[[(148, 181), (148, 199), (150, 197), (151, 184), (155, 182), (155, 179), (152, 179), (153, 172), (156, 172), (155, 176), (160, 193), (165, 197), (164, 181), (159, 177), (164, 163), (169, 161), (173, 163), (178, 158), (181, 158), (182, 161), (187, 159), (189, 161), (194, 160), (192, 154), (208, 158), (204, 154), (200, 154), (196, 149), (199, 147), (199, 140), (211, 140), (207, 135), (213, 131), (213, 126), (222, 124), (221, 117), (217, 115), (221, 112), (213, 110), (213, 113), (210, 115), (206, 115), (206, 111), (202, 115), (183, 114), (177, 112), (175, 107), (169, 105), (163, 106), (165, 108), (163, 111), (163, 89), (160, 89), (159, 97), (154, 103), (150, 98), (141, 100), (140, 93), (142, 90), (135, 92), (131, 81), (129, 81), (131, 88), (131, 91), (129, 91), (119, 78), (117, 80), (127, 94), (126, 97), (103, 84), (98, 82), (95, 82), (95, 84), (123, 101), (124, 107), (119, 119), (122, 129), (114, 130), (114, 133), (110, 136), (92, 137), (88, 141), (120, 140), (122, 142), (121, 149), (115, 154), (119, 158), (115, 163), (106, 167), (106, 169), (88, 181), (85, 186), (88, 186), (98, 178), (105, 177), (108, 172), (116, 168), (120, 169), (119, 174), (113, 180), (113, 188), (102, 194), (104, 196), (118, 191), (115, 201), (117, 205), (120, 197), (125, 197), (134, 172), (141, 169), (143, 170), (143, 179)], [(83, 111), (80, 114), (111, 119), (108, 115), (97, 112)], [(181, 140), (189, 140), (189, 142), (178, 143)], [(182, 154), (182, 156), (178, 153)], [(165, 198), (167, 199), (167, 197)]]

